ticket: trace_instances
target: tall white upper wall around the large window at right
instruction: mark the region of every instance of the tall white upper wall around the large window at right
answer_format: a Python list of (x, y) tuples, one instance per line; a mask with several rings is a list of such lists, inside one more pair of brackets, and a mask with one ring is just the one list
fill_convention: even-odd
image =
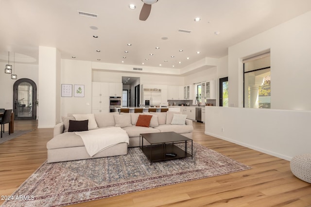
[(311, 12), (228, 49), (229, 106), (243, 106), (242, 58), (271, 49), (271, 108), (311, 110)]

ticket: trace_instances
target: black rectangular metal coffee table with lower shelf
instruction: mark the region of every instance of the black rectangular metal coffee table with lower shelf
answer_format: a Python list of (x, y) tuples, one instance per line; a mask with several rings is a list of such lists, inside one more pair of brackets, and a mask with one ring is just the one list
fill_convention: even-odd
[[(150, 143), (150, 145), (144, 146), (144, 139)], [(179, 148), (176, 143), (185, 143), (185, 150)], [(187, 152), (187, 144), (191, 143), (191, 154)], [(180, 135), (176, 132), (159, 132), (159, 133), (145, 133), (139, 135), (139, 147), (140, 150), (150, 160), (150, 165), (155, 161), (163, 161), (169, 159), (179, 159), (192, 157), (193, 150), (192, 140), (188, 137)], [(176, 156), (169, 156), (167, 154), (173, 153)]]

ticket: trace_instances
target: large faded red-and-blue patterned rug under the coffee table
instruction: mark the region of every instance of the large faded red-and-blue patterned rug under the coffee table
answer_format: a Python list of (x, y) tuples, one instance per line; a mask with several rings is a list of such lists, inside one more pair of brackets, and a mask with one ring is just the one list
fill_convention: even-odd
[(193, 159), (152, 165), (134, 147), (123, 156), (44, 162), (2, 207), (67, 206), (247, 169), (250, 167), (197, 143), (193, 143)]

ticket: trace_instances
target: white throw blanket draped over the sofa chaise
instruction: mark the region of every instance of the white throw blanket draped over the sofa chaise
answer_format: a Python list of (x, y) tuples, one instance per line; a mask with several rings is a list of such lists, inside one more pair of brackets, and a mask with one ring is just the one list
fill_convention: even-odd
[(126, 131), (120, 127), (79, 131), (75, 132), (75, 134), (82, 138), (86, 151), (91, 157), (118, 143), (129, 144), (129, 137)]

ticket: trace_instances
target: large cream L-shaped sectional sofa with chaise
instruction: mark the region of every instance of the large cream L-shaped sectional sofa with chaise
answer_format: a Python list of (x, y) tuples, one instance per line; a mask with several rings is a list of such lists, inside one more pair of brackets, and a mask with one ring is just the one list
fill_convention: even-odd
[[(148, 127), (137, 126), (139, 115), (152, 115)], [(82, 138), (75, 131), (69, 130), (69, 120), (88, 120), (88, 130), (120, 127), (128, 135), (128, 142), (117, 143), (103, 151), (90, 156)], [(192, 120), (176, 111), (144, 112), (144, 113), (97, 113), (72, 114), (62, 117), (63, 122), (54, 127), (52, 140), (47, 143), (48, 162), (90, 159), (127, 154), (127, 147), (139, 146), (139, 135), (174, 131), (192, 139)], [(140, 122), (139, 122), (140, 123)], [(103, 134), (104, 139), (111, 139)], [(149, 144), (144, 141), (144, 143)]]

